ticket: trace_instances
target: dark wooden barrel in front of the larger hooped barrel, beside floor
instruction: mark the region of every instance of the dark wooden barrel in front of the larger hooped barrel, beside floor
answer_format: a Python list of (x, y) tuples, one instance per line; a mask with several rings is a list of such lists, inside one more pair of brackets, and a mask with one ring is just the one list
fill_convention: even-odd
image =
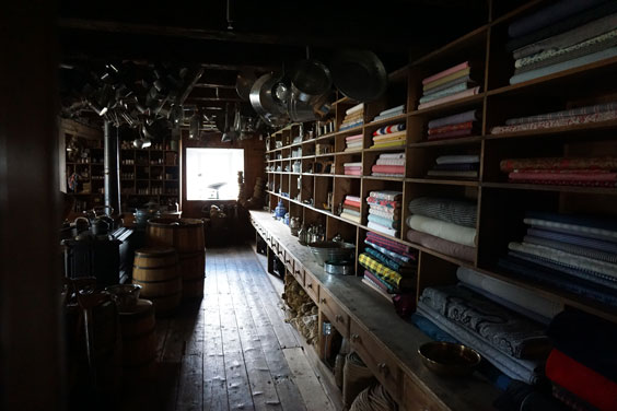
[(138, 300), (129, 312), (120, 313), (123, 333), (123, 365), (139, 368), (150, 365), (156, 356), (156, 320), (154, 305), (148, 300)]

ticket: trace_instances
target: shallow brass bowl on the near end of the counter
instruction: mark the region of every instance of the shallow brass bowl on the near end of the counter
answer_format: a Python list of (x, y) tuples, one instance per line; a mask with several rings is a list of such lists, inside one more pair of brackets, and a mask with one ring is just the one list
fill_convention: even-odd
[(427, 342), (418, 353), (427, 368), (445, 377), (469, 375), (481, 360), (476, 350), (444, 341)]

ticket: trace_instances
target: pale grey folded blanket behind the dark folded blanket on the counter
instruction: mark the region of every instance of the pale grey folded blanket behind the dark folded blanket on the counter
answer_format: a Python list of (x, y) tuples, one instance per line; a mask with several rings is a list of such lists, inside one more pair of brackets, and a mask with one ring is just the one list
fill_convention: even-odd
[[(488, 277), (465, 267), (458, 267), (456, 278), (465, 285), (470, 285), (484, 290), (514, 306), (514, 310), (520, 314), (533, 313), (534, 319), (546, 322), (559, 314), (563, 307), (561, 304), (545, 298), (542, 295), (523, 289), (519, 285)], [(527, 315), (528, 314), (524, 314)]]

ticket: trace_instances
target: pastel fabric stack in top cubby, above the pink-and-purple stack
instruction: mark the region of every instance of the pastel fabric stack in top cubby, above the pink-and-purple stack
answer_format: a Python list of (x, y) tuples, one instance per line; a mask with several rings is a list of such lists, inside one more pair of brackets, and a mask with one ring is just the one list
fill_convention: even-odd
[(480, 86), (472, 80), (472, 66), (465, 61), (426, 78), (422, 80), (422, 90), (418, 109), (476, 95)]

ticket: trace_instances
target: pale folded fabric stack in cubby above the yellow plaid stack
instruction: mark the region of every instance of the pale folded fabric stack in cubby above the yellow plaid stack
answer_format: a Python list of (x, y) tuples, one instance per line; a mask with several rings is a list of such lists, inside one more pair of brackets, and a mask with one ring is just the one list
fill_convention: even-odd
[(368, 227), (397, 237), (400, 230), (400, 191), (371, 191), (366, 197), (369, 204)]

